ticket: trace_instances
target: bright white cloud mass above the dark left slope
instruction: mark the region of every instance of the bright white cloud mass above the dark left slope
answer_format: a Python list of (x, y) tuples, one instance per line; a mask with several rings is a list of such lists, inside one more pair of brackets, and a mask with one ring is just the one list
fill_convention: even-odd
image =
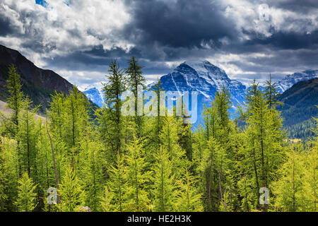
[[(8, 18), (10, 26), (17, 30), (15, 35), (23, 39), (13, 47), (27, 54), (35, 64), (41, 62), (34, 56), (33, 49), (28, 49), (28, 42), (45, 50), (40, 57), (90, 50), (100, 44), (104, 49), (133, 46), (117, 36), (117, 30), (129, 23), (122, 1), (76, 0), (69, 6), (64, 0), (47, 0), (47, 3), (47, 8), (35, 4), (34, 0), (2, 0), (0, 4), (0, 16)], [(2, 37), (1, 42), (11, 44), (12, 37)]]

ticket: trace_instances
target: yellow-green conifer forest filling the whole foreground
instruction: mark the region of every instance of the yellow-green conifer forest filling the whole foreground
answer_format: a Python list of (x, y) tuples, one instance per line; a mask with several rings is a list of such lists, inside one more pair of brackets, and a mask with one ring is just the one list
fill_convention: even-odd
[[(194, 126), (183, 112), (122, 114), (123, 93), (134, 93), (137, 109), (137, 89), (146, 89), (139, 62), (128, 65), (110, 63), (102, 108), (74, 86), (52, 95), (44, 113), (10, 66), (11, 110), (0, 114), (1, 212), (318, 210), (317, 126), (313, 139), (288, 137), (271, 79), (264, 89), (254, 80), (235, 115), (227, 88), (218, 90)], [(151, 109), (163, 105), (160, 90), (158, 80)]]

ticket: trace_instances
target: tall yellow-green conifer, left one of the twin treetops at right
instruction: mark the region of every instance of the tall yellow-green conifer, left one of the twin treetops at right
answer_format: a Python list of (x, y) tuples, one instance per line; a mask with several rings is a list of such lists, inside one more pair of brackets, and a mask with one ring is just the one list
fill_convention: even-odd
[[(269, 103), (255, 81), (250, 87), (247, 100), (245, 155), (252, 163), (254, 200), (258, 200), (256, 197), (259, 196), (259, 189), (269, 187), (273, 175), (282, 164), (284, 133), (281, 130), (279, 113), (275, 109), (269, 109)], [(257, 208), (258, 204), (255, 203), (254, 206)]]

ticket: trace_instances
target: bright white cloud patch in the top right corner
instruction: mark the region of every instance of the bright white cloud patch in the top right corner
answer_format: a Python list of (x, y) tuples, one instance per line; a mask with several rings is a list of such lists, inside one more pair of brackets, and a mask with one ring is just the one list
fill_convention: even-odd
[[(266, 2), (266, 1), (265, 1)], [(306, 33), (318, 28), (318, 8), (313, 8), (311, 13), (299, 13), (275, 5), (268, 4), (266, 14), (269, 14), (269, 21), (260, 20), (261, 13), (259, 6), (264, 4), (261, 1), (247, 0), (223, 0), (225, 16), (235, 22), (235, 27), (241, 32), (243, 40), (249, 39), (242, 30), (256, 32), (259, 37), (270, 37), (273, 32), (298, 32)]]

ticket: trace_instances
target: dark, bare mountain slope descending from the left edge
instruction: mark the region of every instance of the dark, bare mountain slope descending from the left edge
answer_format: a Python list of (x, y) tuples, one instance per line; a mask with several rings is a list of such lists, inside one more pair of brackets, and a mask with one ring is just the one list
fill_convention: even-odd
[(33, 100), (34, 105), (41, 105), (40, 112), (45, 112), (54, 90), (68, 94), (73, 85), (51, 70), (40, 69), (22, 54), (0, 44), (0, 100), (6, 102), (8, 90), (6, 80), (8, 67), (15, 64), (23, 84), (23, 93)]

